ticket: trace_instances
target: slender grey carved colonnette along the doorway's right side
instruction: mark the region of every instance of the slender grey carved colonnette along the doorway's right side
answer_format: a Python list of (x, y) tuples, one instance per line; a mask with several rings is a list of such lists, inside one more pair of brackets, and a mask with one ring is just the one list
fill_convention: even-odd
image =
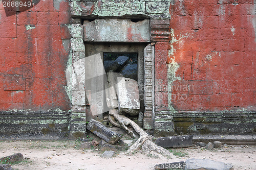
[(154, 129), (155, 118), (155, 46), (148, 44), (144, 49), (144, 101), (145, 112), (143, 118), (144, 129)]

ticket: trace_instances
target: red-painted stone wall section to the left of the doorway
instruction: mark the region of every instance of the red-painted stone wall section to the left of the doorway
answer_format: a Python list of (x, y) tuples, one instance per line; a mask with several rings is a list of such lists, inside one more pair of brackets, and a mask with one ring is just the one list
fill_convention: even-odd
[(70, 8), (68, 1), (54, 3), (40, 1), (7, 16), (0, 2), (1, 111), (70, 108), (65, 91), (69, 49), (62, 45), (70, 38), (63, 26), (70, 23)]

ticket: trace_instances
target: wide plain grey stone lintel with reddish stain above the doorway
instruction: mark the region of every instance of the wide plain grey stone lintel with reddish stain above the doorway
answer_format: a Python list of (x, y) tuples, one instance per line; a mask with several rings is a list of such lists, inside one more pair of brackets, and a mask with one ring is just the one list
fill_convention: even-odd
[(150, 42), (150, 20), (84, 20), (83, 40), (94, 42)]

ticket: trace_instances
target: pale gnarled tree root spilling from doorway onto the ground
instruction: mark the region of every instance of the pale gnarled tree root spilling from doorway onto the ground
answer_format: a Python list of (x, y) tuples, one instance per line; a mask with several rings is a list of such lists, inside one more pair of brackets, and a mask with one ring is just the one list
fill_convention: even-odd
[(126, 130), (130, 135), (136, 137), (136, 134), (133, 133), (127, 126), (131, 125), (133, 129), (140, 135), (140, 137), (137, 139), (137, 141), (131, 145), (127, 153), (133, 153), (136, 151), (141, 150), (144, 153), (147, 154), (153, 154), (158, 156), (158, 154), (166, 156), (168, 158), (173, 158), (173, 154), (167, 151), (166, 149), (159, 147), (152, 141), (152, 136), (148, 135), (142, 128), (139, 127), (133, 120), (130, 118), (125, 117), (124, 115), (118, 114), (117, 109), (111, 109), (109, 111), (109, 115), (113, 116), (120, 126)]

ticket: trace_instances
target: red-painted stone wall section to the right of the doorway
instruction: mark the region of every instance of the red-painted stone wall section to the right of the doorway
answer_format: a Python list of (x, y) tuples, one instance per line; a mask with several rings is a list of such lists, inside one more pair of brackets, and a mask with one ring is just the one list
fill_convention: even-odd
[(167, 61), (179, 64), (180, 77), (172, 86), (175, 109), (256, 110), (255, 8), (253, 0), (184, 0), (170, 7), (174, 53)]

